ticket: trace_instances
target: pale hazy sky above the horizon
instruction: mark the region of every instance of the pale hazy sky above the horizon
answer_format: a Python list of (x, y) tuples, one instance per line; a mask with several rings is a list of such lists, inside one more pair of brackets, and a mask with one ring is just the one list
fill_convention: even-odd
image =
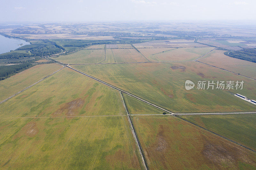
[(0, 0), (0, 21), (256, 19), (256, 0)]

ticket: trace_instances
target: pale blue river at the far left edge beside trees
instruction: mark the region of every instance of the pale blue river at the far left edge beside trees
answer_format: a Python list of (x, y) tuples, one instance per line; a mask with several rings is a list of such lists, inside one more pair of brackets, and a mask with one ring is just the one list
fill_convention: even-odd
[[(22, 45), (19, 45), (22, 44)], [(15, 50), (24, 45), (30, 44), (27, 41), (15, 39), (15, 38), (7, 38), (3, 35), (0, 35), (0, 54), (9, 52), (10, 50)]]

